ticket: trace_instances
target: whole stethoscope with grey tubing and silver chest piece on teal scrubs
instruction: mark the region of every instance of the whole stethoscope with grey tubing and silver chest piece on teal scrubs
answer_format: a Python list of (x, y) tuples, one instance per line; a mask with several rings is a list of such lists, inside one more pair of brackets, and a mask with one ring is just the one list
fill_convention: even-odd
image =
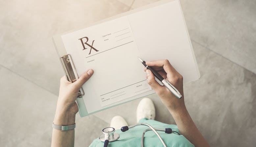
[[(157, 133), (157, 131), (163, 131), (163, 132), (165, 132), (167, 134), (174, 133), (174, 134), (180, 135), (178, 132), (172, 131), (171, 128), (156, 129), (156, 128), (153, 128), (152, 126), (150, 126), (149, 124), (146, 124), (146, 123), (138, 123), (138, 124), (135, 124), (135, 125), (131, 125), (129, 127), (128, 126), (124, 126), (124, 127), (121, 128), (121, 131), (125, 132), (125, 131), (129, 130), (130, 128), (133, 128), (133, 127), (136, 127), (136, 126), (139, 126), (139, 125), (144, 125), (144, 126), (148, 126), (149, 127), (149, 129), (144, 130), (144, 132), (142, 133), (142, 136), (141, 136), (141, 147), (143, 147), (144, 134), (147, 131), (151, 131), (151, 130), (154, 131), (154, 133), (158, 136), (158, 138), (160, 139), (160, 141), (162, 142), (164, 147), (167, 147), (167, 146), (166, 146), (164, 140), (162, 139), (162, 137)], [(120, 135), (118, 133), (115, 133), (115, 128), (108, 127), (108, 128), (104, 128), (102, 130), (102, 135), (99, 136), (99, 139), (100, 139), (100, 141), (104, 142), (104, 147), (107, 147), (109, 142), (116, 141), (119, 137), (120, 137)]]

